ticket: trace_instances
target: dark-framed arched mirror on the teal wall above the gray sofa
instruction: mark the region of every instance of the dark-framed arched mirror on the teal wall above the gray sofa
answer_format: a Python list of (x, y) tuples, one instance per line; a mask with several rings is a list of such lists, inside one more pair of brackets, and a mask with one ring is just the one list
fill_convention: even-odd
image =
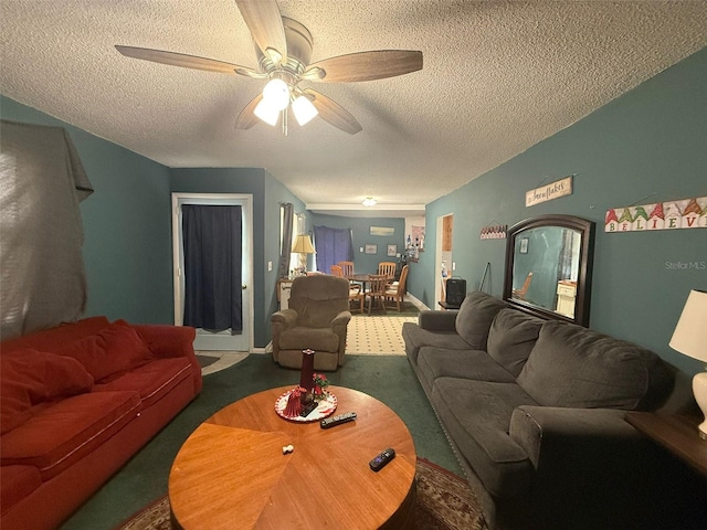
[(594, 223), (540, 215), (508, 229), (504, 300), (542, 318), (589, 325)]

